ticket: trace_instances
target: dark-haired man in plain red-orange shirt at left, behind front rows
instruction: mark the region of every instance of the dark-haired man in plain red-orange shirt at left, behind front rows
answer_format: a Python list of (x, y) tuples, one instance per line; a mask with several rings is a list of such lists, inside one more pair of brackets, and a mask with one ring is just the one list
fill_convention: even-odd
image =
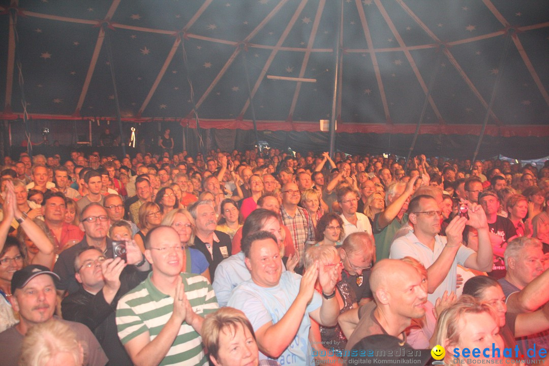
[(51, 192), (44, 195), (42, 216), (55, 240), (54, 244), (58, 252), (62, 251), (69, 241), (80, 241), (84, 237), (79, 227), (65, 222), (65, 213), (66, 203), (63, 193)]

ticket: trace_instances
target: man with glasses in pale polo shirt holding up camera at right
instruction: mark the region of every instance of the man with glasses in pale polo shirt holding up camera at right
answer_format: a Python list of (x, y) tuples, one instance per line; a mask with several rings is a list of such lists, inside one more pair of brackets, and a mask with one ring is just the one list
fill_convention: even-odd
[[(446, 227), (446, 237), (439, 235), (442, 212), (432, 196), (417, 195), (408, 204), (407, 212), (413, 231), (393, 241), (390, 258), (409, 256), (427, 268), (431, 303), (435, 303), (445, 291), (456, 290), (457, 264), (481, 272), (492, 270), (488, 222), (480, 205), (469, 203), (469, 218), (454, 217)], [(466, 224), (478, 231), (478, 252), (462, 245)]]

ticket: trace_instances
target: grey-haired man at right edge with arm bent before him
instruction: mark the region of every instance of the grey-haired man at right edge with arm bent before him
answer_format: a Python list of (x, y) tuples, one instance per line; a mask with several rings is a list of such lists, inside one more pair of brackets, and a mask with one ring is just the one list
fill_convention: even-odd
[[(519, 237), (505, 250), (507, 274), (498, 282), (505, 294), (509, 313), (533, 312), (549, 301), (549, 271), (544, 269), (544, 252), (538, 239)], [(549, 348), (549, 329), (517, 339), (522, 354), (534, 347)]]

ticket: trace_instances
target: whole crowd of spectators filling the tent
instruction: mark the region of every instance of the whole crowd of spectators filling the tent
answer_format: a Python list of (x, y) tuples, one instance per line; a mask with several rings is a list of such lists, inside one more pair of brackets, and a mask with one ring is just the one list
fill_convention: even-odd
[(393, 340), (452, 364), (453, 348), (549, 348), (549, 161), (169, 142), (5, 157), (2, 364), (346, 363)]

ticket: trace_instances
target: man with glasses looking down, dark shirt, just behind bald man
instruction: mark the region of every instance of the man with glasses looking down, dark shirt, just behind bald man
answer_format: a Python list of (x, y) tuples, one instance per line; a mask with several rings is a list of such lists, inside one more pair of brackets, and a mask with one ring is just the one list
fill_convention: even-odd
[(372, 237), (365, 232), (348, 235), (339, 247), (339, 256), (343, 263), (341, 281), (349, 284), (356, 296), (356, 302), (362, 305), (372, 300), (369, 278), (376, 256)]

